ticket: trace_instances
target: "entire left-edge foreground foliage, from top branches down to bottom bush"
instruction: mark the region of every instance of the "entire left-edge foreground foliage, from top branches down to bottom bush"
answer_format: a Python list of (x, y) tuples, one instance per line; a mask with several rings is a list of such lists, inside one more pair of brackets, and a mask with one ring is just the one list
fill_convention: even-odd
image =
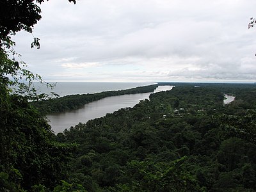
[[(31, 33), (40, 20), (36, 1), (6, 0), (0, 4), (0, 189), (1, 191), (51, 190), (67, 173), (70, 152), (76, 146), (54, 141), (47, 120), (30, 100), (45, 99), (33, 81), (39, 75), (26, 70), (26, 63), (12, 47), (10, 36), (17, 31)], [(39, 47), (38, 38), (33, 46)], [(10, 59), (12, 58), (12, 59)], [(44, 187), (44, 186), (45, 187)]]

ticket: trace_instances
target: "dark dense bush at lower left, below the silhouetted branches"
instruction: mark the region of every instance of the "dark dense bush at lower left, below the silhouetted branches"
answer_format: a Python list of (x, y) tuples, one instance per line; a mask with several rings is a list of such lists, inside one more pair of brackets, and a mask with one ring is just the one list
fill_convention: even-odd
[(0, 110), (1, 169), (18, 169), (24, 189), (38, 183), (51, 187), (63, 177), (75, 147), (55, 143), (50, 125), (26, 98), (8, 97), (8, 108)]

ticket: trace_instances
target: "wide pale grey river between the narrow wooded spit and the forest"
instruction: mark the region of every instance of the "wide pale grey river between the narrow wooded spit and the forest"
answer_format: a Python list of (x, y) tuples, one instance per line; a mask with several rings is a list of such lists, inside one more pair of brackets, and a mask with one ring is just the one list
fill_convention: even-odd
[[(171, 90), (173, 86), (158, 86), (154, 93)], [(71, 126), (86, 123), (88, 120), (105, 116), (107, 113), (113, 113), (121, 108), (133, 107), (140, 100), (148, 99), (151, 93), (138, 93), (131, 95), (118, 95), (114, 97), (106, 97), (97, 101), (85, 104), (83, 108), (67, 111), (64, 113), (53, 113), (47, 115), (50, 120), (49, 124), (55, 133), (63, 132)]]

